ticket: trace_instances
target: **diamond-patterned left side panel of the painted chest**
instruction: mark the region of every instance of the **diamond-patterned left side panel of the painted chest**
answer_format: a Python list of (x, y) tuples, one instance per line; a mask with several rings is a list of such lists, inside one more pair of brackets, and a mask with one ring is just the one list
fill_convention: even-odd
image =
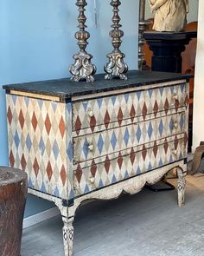
[(65, 124), (71, 124), (71, 108), (13, 95), (7, 95), (7, 106), (10, 165), (26, 170), (29, 187), (67, 199), (72, 159), (67, 156)]

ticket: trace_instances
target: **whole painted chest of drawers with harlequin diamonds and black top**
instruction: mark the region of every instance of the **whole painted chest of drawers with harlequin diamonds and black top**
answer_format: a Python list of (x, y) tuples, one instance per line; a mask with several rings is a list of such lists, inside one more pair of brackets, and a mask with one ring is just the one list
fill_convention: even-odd
[(131, 71), (128, 77), (3, 87), (10, 166), (27, 172), (29, 193), (59, 207), (65, 255), (72, 255), (74, 213), (84, 200), (137, 193), (177, 168), (183, 205), (188, 76)]

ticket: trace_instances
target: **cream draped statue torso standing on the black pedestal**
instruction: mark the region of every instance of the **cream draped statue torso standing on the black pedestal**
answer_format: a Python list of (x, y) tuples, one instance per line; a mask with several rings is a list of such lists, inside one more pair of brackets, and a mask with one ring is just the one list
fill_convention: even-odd
[(149, 0), (150, 9), (155, 12), (153, 30), (178, 32), (187, 23), (188, 0)]

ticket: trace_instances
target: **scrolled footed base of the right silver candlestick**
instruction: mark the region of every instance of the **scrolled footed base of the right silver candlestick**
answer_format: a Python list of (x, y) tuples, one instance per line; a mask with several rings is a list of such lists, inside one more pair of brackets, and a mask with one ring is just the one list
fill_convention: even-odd
[(107, 73), (105, 79), (110, 80), (118, 77), (127, 80), (127, 76), (124, 74), (128, 71), (128, 66), (124, 63), (124, 53), (118, 50), (108, 54), (107, 57), (109, 58), (109, 62), (104, 66), (104, 70)]

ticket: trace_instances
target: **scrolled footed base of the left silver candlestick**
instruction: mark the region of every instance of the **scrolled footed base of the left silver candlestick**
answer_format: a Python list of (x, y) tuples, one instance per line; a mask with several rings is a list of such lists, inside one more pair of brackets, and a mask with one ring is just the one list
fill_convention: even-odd
[(92, 55), (87, 54), (86, 51), (80, 50), (78, 55), (74, 55), (75, 63), (70, 66), (69, 71), (73, 75), (71, 81), (79, 82), (86, 80), (86, 82), (94, 82), (92, 75), (96, 73), (96, 66), (92, 64)]

